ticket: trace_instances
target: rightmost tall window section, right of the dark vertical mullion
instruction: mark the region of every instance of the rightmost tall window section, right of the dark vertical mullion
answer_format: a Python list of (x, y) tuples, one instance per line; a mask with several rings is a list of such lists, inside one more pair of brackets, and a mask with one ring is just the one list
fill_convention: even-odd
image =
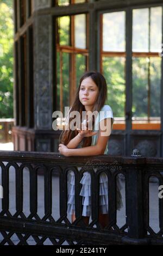
[(133, 10), (133, 129), (160, 129), (161, 25), (162, 7)]

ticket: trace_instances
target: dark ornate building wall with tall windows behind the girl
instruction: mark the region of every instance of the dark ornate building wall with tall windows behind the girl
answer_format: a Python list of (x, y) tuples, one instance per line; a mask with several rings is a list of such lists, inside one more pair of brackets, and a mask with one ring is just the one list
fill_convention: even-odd
[(110, 155), (163, 156), (160, 0), (14, 0), (14, 149), (58, 152), (54, 111), (85, 70), (108, 84)]

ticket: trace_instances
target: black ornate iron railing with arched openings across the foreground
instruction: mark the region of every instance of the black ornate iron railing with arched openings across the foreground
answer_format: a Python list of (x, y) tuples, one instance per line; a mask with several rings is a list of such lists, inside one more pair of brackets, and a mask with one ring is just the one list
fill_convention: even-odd
[[(82, 167), (80, 171), (77, 169), (79, 166)], [(163, 159), (106, 155), (64, 157), (54, 153), (0, 151), (0, 167), (0, 184), (3, 187), (1, 245), (29, 245), (31, 242), (37, 245), (163, 244), (163, 199), (159, 199), (159, 231), (156, 233), (149, 223), (149, 178), (156, 176), (158, 186), (163, 185)], [(73, 223), (67, 216), (67, 173), (70, 170), (73, 170), (76, 180), (77, 219)], [(79, 196), (80, 180), (85, 171), (91, 175), (92, 214), (89, 226), (83, 222), (82, 197)], [(106, 174), (109, 184), (109, 223), (105, 228), (98, 222), (101, 173)], [(121, 227), (117, 224), (117, 175), (123, 178), (124, 186), (126, 220)], [(43, 182), (40, 190), (39, 182)], [(11, 191), (10, 185), (14, 190)], [(39, 193), (43, 194), (41, 203), (38, 201)], [(41, 215), (40, 209), (43, 209)]]

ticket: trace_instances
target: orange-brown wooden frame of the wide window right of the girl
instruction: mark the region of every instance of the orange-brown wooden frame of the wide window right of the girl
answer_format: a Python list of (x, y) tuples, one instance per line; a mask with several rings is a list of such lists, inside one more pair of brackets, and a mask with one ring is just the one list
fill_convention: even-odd
[[(150, 84), (149, 84), (149, 78), (148, 78), (148, 117), (147, 121), (148, 123), (142, 123), (142, 124), (136, 124), (136, 122), (133, 121), (134, 118), (132, 118), (132, 86), (129, 84), (132, 84), (132, 58), (133, 57), (159, 57), (159, 53), (157, 52), (133, 52), (132, 51), (132, 40), (133, 40), (133, 10), (134, 9), (142, 9), (142, 8), (153, 8), (153, 7), (162, 7), (162, 38), (163, 38), (163, 4), (155, 4), (155, 5), (137, 5), (136, 7), (127, 7), (127, 8), (116, 8), (116, 9), (108, 9), (108, 10), (100, 10), (98, 11), (98, 31), (99, 31), (99, 36), (98, 36), (98, 51), (97, 51), (97, 63), (98, 63), (98, 70), (100, 70), (103, 74), (103, 69), (102, 69), (102, 58), (103, 56), (106, 57), (126, 57), (126, 71), (125, 71), (125, 76), (126, 76), (126, 106), (125, 106), (125, 111), (124, 111), (124, 118), (120, 120), (120, 118), (115, 118), (115, 124), (114, 124), (114, 129), (115, 130), (161, 130), (161, 116), (160, 116), (160, 121), (158, 124), (154, 124), (151, 122), (151, 117), (149, 115), (150, 111), (150, 100), (149, 100), (149, 95), (150, 95)], [(106, 52), (103, 51), (103, 26), (102, 26), (102, 17), (103, 14), (105, 13), (113, 13), (113, 12), (118, 12), (118, 11), (125, 11), (126, 13), (126, 35), (125, 35), (125, 40), (126, 40), (126, 52)], [(128, 20), (130, 19), (130, 22)], [(150, 19), (150, 16), (149, 16)], [(149, 27), (150, 29), (150, 27)], [(163, 39), (162, 39), (163, 42)], [(150, 46), (149, 46), (150, 47)], [(162, 61), (161, 61), (162, 63)], [(162, 67), (163, 64), (161, 64)], [(162, 89), (162, 76), (163, 76), (163, 70), (161, 68), (161, 84), (160, 87)], [(149, 72), (148, 72), (149, 76)], [(162, 95), (162, 93), (161, 93)], [(128, 101), (127, 101), (128, 99)], [(160, 108), (163, 108), (160, 105)], [(162, 110), (163, 111), (163, 110)], [(117, 120), (116, 120), (117, 119)], [(118, 119), (120, 121), (118, 121)], [(163, 118), (162, 118), (163, 119)]]

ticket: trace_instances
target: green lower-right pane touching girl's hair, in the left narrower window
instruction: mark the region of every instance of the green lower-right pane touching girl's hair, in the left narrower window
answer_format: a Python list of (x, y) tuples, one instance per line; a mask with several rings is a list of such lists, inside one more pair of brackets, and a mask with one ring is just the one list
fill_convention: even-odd
[(82, 54), (76, 55), (76, 81), (77, 81), (77, 88), (79, 86), (80, 77), (86, 71), (86, 57)]

